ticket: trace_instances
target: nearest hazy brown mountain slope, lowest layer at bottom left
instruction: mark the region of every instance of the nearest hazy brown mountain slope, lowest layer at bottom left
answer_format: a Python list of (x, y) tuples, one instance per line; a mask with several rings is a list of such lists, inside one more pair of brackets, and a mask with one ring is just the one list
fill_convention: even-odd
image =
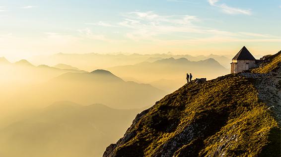
[(28, 117), (18, 115), (20, 120), (0, 128), (0, 156), (101, 157), (137, 112), (139, 109), (57, 102)]

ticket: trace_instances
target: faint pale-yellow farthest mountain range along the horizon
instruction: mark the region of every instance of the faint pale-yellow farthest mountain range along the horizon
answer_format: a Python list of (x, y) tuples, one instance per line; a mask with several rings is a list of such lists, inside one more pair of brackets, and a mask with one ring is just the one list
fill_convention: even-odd
[(190, 61), (200, 61), (206, 60), (209, 58), (213, 58), (217, 60), (221, 65), (225, 68), (229, 68), (231, 56), (229, 55), (173, 55), (172, 53), (162, 53), (162, 54), (124, 54), (120, 53), (107, 53), (107, 54), (99, 54), (99, 53), (57, 53), (49, 56), (34, 56), (29, 58), (34, 63), (37, 64), (68, 64), (79, 69), (83, 69), (86, 71), (91, 71), (92, 69), (106, 69), (109, 67), (120, 66), (120, 65), (132, 65), (140, 62), (148, 61), (154, 62), (156, 60), (167, 59), (167, 58), (187, 58)]

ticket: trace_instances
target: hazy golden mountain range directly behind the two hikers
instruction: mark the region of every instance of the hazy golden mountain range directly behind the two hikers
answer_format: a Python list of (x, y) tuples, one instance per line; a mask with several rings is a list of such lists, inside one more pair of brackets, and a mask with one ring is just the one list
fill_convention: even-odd
[[(108, 69), (120, 77), (132, 77), (167, 92), (172, 92), (185, 84), (186, 73), (192, 73), (194, 79), (213, 79), (229, 72), (228, 69), (211, 58), (190, 61), (186, 58), (175, 59), (172, 57), (154, 62), (141, 62)], [(163, 82), (163, 80), (165, 81)]]

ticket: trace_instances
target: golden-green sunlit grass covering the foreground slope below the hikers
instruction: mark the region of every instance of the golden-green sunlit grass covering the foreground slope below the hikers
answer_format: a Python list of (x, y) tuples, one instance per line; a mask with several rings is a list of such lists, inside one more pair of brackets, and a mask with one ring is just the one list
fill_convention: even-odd
[[(156, 157), (159, 152), (167, 152), (165, 145), (176, 140), (178, 144), (173, 150), (168, 147), (172, 155), (176, 152), (176, 157), (185, 157), (186, 153), (254, 157), (267, 152), (264, 146), (271, 142), (269, 134), (278, 128), (278, 123), (258, 100), (253, 82), (227, 75), (203, 84), (183, 86), (160, 100), (132, 126), (136, 136), (117, 148), (117, 154)], [(189, 126), (194, 126), (188, 130), (194, 132), (193, 137), (181, 139), (179, 135)]]

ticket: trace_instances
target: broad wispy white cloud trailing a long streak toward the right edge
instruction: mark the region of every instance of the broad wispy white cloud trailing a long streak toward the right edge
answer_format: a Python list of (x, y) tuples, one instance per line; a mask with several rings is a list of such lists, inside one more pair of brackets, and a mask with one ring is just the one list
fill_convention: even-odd
[[(215, 4), (216, 1), (211, 1)], [(231, 32), (199, 26), (202, 22), (192, 15), (160, 15), (154, 11), (123, 13), (119, 26), (126, 27), (126, 37), (131, 40), (150, 40), (161, 43), (167, 41), (199, 43), (214, 41), (253, 40), (276, 41), (276, 36), (253, 32)], [(181, 35), (180, 35), (181, 34)], [(190, 34), (197, 34), (196, 36)], [(165, 37), (169, 36), (167, 39)], [(204, 38), (203, 38), (204, 36)], [(178, 39), (178, 40), (171, 40)]]

